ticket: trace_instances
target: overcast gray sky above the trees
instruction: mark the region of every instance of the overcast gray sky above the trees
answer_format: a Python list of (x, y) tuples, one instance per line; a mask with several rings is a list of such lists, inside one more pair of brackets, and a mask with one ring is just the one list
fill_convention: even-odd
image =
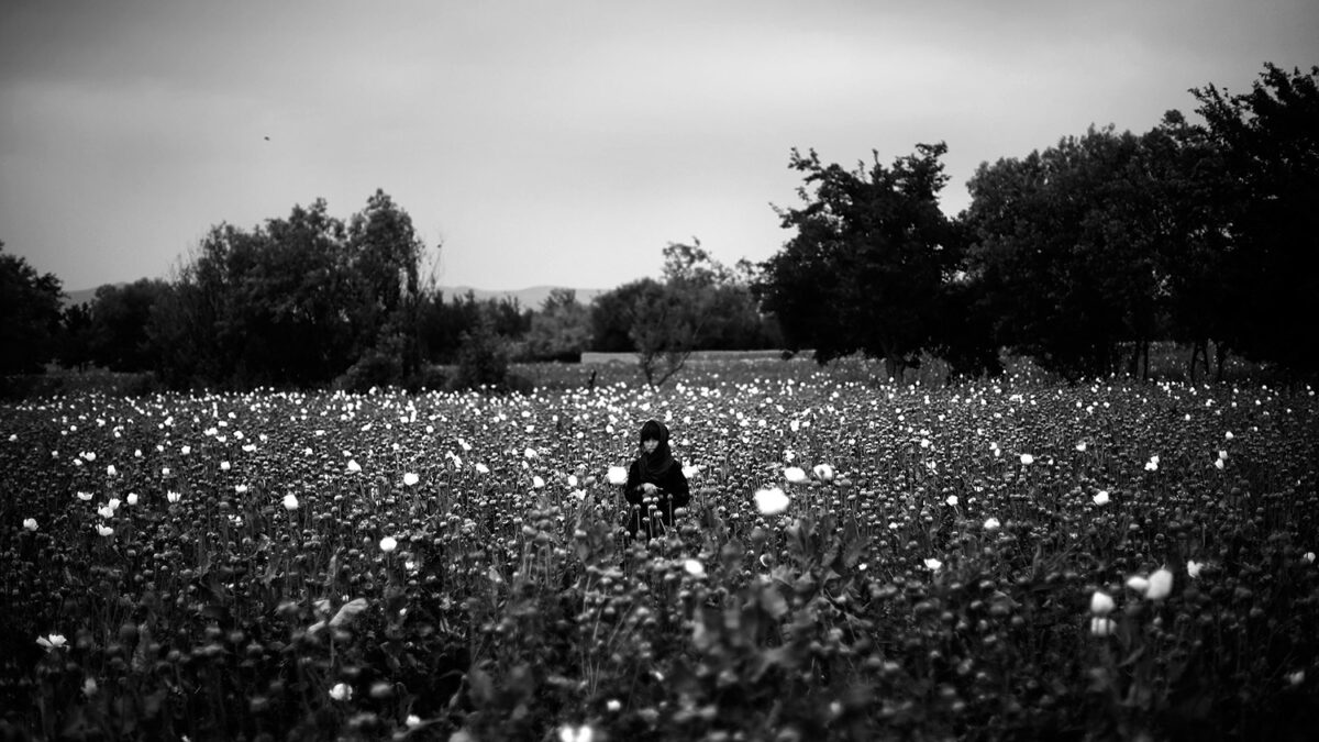
[(1314, 0), (5, 0), (0, 240), (86, 289), (381, 187), (442, 284), (611, 288), (692, 236), (774, 253), (793, 147), (943, 140), (955, 214), (983, 161), (1148, 131), (1316, 40)]

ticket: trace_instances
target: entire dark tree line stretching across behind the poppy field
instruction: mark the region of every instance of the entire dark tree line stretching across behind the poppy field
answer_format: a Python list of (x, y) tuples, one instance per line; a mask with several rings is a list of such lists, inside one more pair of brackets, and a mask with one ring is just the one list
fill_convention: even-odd
[[(636, 353), (652, 384), (707, 349), (864, 354), (890, 375), (942, 358), (956, 375), (1001, 354), (1067, 379), (1148, 370), (1149, 346), (1301, 374), (1316, 316), (1319, 67), (1265, 65), (1250, 91), (1192, 90), (1144, 135), (1095, 128), (984, 162), (971, 205), (939, 209), (947, 147), (853, 169), (793, 151), (801, 203), (765, 263), (720, 264), (699, 239), (658, 279), (541, 308), (445, 297), (427, 248), (384, 191), (347, 220), (324, 201), (253, 228), (211, 227), (169, 280), (106, 285), (61, 308), (61, 283), (0, 252), (0, 372), (103, 367), (175, 387), (499, 386), (513, 359)], [(3, 248), (3, 243), (0, 243)], [(456, 368), (438, 378), (435, 368)]]

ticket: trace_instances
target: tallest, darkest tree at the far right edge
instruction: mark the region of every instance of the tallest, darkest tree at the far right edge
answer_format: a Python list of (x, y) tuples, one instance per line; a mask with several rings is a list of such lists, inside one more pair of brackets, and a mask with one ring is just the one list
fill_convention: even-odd
[(1212, 203), (1225, 215), (1224, 269), (1232, 276), (1228, 341), (1256, 359), (1319, 370), (1308, 327), (1319, 314), (1319, 67), (1265, 65), (1249, 92), (1192, 91), (1203, 135), (1225, 178)]

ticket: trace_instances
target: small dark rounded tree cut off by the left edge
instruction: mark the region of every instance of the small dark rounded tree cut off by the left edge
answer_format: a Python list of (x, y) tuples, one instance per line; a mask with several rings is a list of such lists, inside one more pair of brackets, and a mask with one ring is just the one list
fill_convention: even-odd
[(57, 353), (63, 285), (0, 242), (0, 374), (34, 374)]

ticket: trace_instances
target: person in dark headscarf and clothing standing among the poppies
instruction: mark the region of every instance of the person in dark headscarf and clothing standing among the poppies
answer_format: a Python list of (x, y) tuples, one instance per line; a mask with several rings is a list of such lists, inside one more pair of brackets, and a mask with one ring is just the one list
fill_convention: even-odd
[(669, 449), (669, 428), (663, 422), (646, 420), (641, 426), (641, 449), (628, 469), (623, 496), (632, 506), (628, 533), (633, 539), (658, 536), (673, 525), (673, 511), (691, 502), (687, 477)]

